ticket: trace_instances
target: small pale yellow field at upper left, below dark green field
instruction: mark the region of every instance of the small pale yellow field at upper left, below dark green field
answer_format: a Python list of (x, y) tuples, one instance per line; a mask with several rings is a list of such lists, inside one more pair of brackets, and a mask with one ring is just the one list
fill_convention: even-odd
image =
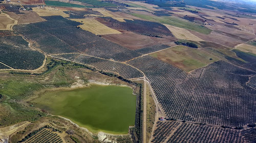
[(55, 16), (60, 15), (62, 17), (69, 17), (68, 14), (63, 12), (64, 10), (51, 8), (51, 7), (44, 7), (44, 8), (33, 8), (33, 11), (36, 12), (39, 16)]

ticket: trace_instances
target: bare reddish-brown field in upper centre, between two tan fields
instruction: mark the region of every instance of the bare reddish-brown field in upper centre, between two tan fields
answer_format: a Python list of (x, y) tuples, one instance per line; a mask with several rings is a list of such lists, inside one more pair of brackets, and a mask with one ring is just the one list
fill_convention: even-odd
[(170, 36), (164, 38), (156, 38), (151, 36), (139, 35), (133, 32), (121, 32), (122, 34), (102, 35), (102, 37), (132, 50), (156, 44), (165, 44), (172, 46), (173, 42), (175, 41), (175, 38)]

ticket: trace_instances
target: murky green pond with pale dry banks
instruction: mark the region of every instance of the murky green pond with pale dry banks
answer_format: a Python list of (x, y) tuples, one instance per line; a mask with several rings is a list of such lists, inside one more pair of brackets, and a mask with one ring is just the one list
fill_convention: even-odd
[(126, 134), (135, 124), (136, 96), (129, 87), (96, 85), (75, 90), (46, 91), (31, 102), (97, 133)]

